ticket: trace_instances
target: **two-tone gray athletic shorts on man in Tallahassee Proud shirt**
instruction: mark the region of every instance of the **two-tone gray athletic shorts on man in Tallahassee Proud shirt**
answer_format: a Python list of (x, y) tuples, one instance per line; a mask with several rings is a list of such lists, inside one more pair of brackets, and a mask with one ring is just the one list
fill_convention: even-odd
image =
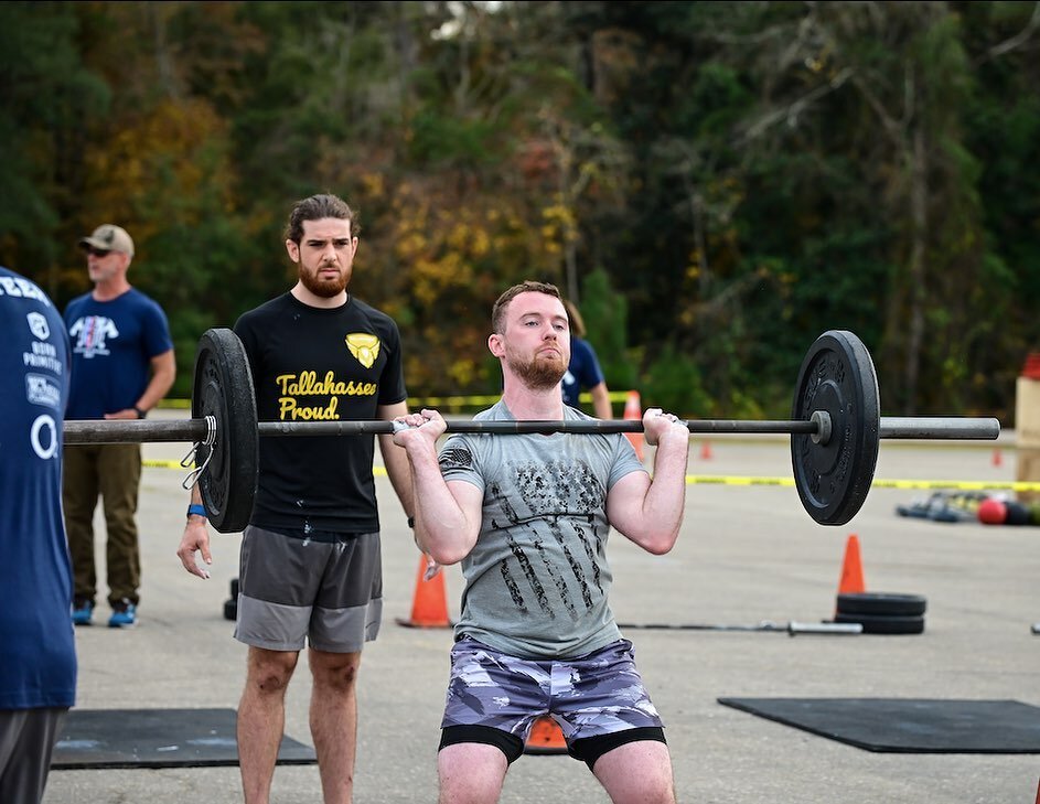
[(330, 542), (249, 525), (238, 566), (235, 639), (269, 651), (357, 653), (379, 633), (383, 562), (378, 533)]

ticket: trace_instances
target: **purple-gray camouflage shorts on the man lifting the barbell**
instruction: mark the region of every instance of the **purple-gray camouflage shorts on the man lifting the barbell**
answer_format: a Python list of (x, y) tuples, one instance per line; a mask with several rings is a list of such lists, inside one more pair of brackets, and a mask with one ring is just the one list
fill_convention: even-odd
[(555, 716), (568, 744), (662, 728), (628, 640), (555, 661), (516, 658), (468, 636), (454, 644), (441, 728), (490, 726), (526, 740), (543, 715)]

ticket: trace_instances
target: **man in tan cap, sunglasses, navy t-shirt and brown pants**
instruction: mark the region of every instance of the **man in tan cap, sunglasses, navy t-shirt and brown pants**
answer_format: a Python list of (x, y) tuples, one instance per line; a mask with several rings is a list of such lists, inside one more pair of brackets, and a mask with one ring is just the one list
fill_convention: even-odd
[[(173, 341), (162, 308), (133, 288), (127, 270), (133, 240), (115, 224), (79, 239), (94, 290), (65, 309), (72, 341), (67, 419), (143, 419), (173, 385)], [(65, 450), (63, 503), (75, 588), (72, 619), (89, 625), (97, 573), (94, 510), (98, 495), (108, 529), (108, 603), (112, 628), (137, 623), (141, 562), (138, 548), (139, 443), (76, 444)]]

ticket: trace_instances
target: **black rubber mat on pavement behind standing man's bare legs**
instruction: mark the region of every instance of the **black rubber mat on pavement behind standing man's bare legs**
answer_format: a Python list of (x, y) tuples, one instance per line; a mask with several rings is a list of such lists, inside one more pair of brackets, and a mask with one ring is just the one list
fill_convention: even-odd
[[(311, 764), (314, 750), (282, 737), (279, 764)], [(54, 748), (55, 770), (237, 765), (234, 709), (73, 709)]]

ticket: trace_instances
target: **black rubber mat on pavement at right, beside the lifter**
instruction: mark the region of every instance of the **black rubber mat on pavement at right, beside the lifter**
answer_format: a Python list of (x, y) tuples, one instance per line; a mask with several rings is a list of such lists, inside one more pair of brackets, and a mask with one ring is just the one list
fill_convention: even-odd
[(1040, 753), (1040, 708), (1017, 700), (718, 698), (867, 751)]

